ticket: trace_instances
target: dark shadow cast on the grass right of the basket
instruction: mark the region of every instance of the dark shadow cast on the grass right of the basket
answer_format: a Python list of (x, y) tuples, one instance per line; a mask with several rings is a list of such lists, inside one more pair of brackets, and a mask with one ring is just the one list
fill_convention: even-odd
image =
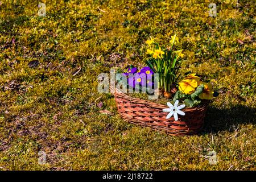
[(242, 105), (230, 109), (209, 107), (205, 117), (203, 133), (217, 133), (218, 131), (234, 131), (239, 124), (256, 124), (256, 108)]

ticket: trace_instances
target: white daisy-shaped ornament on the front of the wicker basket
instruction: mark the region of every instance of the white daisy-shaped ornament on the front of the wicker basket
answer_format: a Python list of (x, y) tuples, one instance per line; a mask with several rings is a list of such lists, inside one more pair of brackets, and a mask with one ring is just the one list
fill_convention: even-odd
[(177, 119), (178, 119), (177, 114), (185, 115), (185, 113), (180, 110), (185, 107), (185, 104), (180, 105), (180, 106), (178, 106), (178, 104), (179, 104), (178, 100), (175, 101), (174, 106), (170, 102), (167, 102), (167, 105), (170, 108), (163, 109), (163, 112), (170, 112), (170, 113), (166, 116), (166, 119), (169, 119), (172, 117), (172, 115), (174, 115), (174, 120), (177, 121)]

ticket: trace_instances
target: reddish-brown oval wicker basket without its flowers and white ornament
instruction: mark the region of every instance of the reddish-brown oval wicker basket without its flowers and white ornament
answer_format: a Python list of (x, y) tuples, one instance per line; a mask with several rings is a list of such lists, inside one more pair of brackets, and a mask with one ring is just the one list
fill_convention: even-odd
[(115, 97), (118, 113), (130, 123), (164, 131), (170, 135), (193, 135), (198, 133), (204, 126), (204, 117), (209, 102), (204, 102), (200, 106), (182, 109), (185, 115), (179, 115), (178, 121), (174, 121), (174, 117), (166, 119), (168, 113), (163, 112), (163, 109), (167, 108), (167, 105), (133, 98), (113, 87), (111, 89)]

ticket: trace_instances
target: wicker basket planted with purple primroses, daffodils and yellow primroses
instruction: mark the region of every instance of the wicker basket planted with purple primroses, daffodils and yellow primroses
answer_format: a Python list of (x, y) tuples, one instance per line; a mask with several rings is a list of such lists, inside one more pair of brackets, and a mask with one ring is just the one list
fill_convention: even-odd
[(148, 88), (158, 90), (157, 96), (165, 98), (167, 106), (114, 89), (118, 113), (126, 121), (166, 131), (170, 135), (199, 132), (209, 100), (217, 96), (217, 92), (213, 91), (210, 82), (203, 82), (195, 73), (187, 73), (180, 80), (179, 68), (184, 54), (182, 49), (175, 50), (175, 45), (179, 43), (176, 35), (171, 36), (171, 46), (167, 48), (161, 47), (152, 38), (146, 43), (147, 67), (137, 69), (130, 66), (119, 80), (125, 89), (136, 93), (147, 92)]

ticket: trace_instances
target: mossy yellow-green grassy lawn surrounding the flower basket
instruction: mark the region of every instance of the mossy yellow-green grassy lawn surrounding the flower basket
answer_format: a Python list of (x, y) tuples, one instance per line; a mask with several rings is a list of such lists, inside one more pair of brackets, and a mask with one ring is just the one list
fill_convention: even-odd
[[(254, 1), (42, 2), (46, 16), (37, 1), (0, 1), (0, 170), (256, 169)], [(131, 125), (97, 92), (100, 73), (142, 67), (146, 40), (175, 33), (180, 73), (220, 93), (191, 137)]]

